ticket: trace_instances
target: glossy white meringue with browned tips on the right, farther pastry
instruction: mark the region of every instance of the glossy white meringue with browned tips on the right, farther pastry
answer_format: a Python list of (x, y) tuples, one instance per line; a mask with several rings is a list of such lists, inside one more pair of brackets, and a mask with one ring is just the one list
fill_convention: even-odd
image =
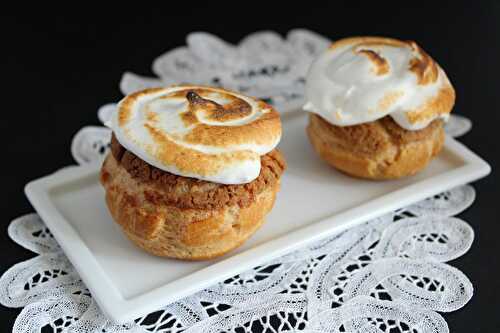
[(339, 40), (311, 65), (307, 103), (330, 123), (350, 126), (390, 115), (408, 130), (447, 119), (455, 91), (415, 42), (381, 37)]

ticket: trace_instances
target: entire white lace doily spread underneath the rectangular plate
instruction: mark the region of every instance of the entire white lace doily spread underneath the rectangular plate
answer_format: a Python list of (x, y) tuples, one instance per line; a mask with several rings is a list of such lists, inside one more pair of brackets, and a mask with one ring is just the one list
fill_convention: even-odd
[[(155, 61), (160, 79), (127, 73), (121, 87), (127, 93), (194, 75), (196, 83), (267, 96), (276, 105), (290, 99), (302, 103), (304, 71), (326, 43), (305, 30), (292, 31), (286, 39), (258, 33), (237, 47), (212, 35), (193, 34), (188, 47)], [(266, 68), (273, 76), (261, 77)], [(206, 80), (215, 74), (218, 81)], [(108, 119), (113, 108), (102, 107), (99, 119)], [(470, 121), (452, 118), (446, 129), (461, 135)], [(75, 160), (102, 159), (110, 135), (105, 127), (84, 127), (73, 139)], [(438, 312), (459, 309), (473, 293), (467, 277), (446, 264), (466, 253), (474, 238), (472, 228), (452, 216), (474, 197), (469, 185), (446, 191), (125, 325), (101, 313), (43, 221), (36, 214), (25, 215), (12, 221), (9, 236), (37, 255), (3, 274), (0, 302), (23, 307), (14, 332), (448, 332)]]

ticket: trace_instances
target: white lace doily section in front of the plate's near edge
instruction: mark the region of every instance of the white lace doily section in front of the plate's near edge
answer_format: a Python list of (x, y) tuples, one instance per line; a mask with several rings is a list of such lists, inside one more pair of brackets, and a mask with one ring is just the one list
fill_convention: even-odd
[[(443, 209), (442, 198), (453, 207)], [(471, 186), (455, 188), (125, 325), (101, 313), (43, 221), (29, 214), (11, 223), (9, 235), (38, 256), (4, 273), (0, 301), (24, 307), (14, 332), (447, 332), (436, 311), (464, 306), (473, 288), (444, 262), (467, 252), (474, 237), (447, 214), (473, 198)]]

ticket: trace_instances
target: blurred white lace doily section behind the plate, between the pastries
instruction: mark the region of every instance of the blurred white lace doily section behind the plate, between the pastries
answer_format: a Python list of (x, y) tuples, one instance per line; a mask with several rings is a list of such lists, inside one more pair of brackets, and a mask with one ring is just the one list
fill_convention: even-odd
[(197, 32), (186, 46), (153, 61), (158, 78), (125, 73), (124, 94), (160, 85), (191, 83), (220, 86), (255, 96), (289, 110), (303, 104), (304, 77), (311, 61), (330, 41), (308, 30), (291, 30), (286, 38), (275, 32), (257, 32), (231, 45), (217, 36)]

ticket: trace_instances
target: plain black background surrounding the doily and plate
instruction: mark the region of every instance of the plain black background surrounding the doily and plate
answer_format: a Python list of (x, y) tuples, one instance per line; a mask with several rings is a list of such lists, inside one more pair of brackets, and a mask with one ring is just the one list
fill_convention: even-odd
[[(152, 60), (185, 44), (192, 31), (208, 31), (236, 43), (256, 30), (285, 34), (308, 28), (331, 39), (383, 35), (416, 40), (455, 86), (454, 112), (471, 118), (473, 131), (460, 140), (486, 159), (492, 174), (475, 183), (477, 199), (461, 217), (474, 228), (472, 249), (451, 264), (473, 282), (467, 306), (445, 314), (452, 332), (493, 332), (500, 328), (498, 153), (500, 95), (500, 3), (404, 2), (302, 4), (269, 8), (257, 4), (212, 5), (186, 2), (153, 9), (141, 4), (126, 12), (84, 13), (71, 8), (50, 15), (12, 12), (1, 18), (1, 227), (0, 272), (32, 253), (10, 241), (9, 222), (33, 209), (23, 194), (28, 181), (73, 164), (72, 136), (99, 124), (97, 108), (117, 101), (121, 74), (152, 75)], [(151, 5), (144, 6), (151, 7)], [(28, 9), (28, 8), (25, 8)], [(77, 15), (80, 14), (80, 15)], [(0, 307), (0, 328), (10, 330), (18, 309)]]

